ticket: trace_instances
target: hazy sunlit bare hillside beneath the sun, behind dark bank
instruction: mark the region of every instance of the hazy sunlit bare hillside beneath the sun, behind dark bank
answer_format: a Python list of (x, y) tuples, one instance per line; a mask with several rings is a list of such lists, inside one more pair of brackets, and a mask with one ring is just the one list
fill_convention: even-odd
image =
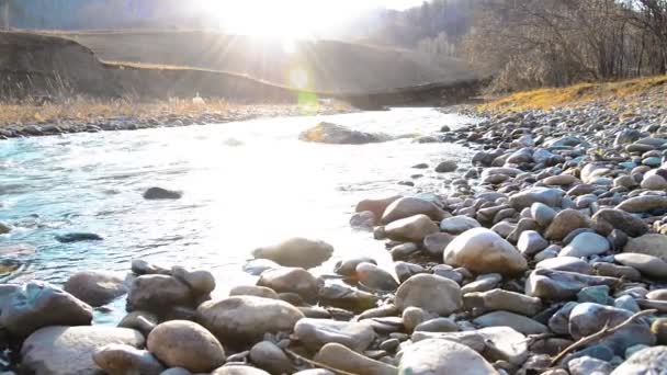
[[(102, 60), (228, 71), (279, 86), (293, 86), (294, 71), (307, 88), (331, 93), (381, 92), (476, 77), (459, 60), (433, 64), (410, 50), (334, 41), (292, 46), (248, 36), (201, 31), (64, 33)], [(287, 47), (287, 48), (285, 48)]]

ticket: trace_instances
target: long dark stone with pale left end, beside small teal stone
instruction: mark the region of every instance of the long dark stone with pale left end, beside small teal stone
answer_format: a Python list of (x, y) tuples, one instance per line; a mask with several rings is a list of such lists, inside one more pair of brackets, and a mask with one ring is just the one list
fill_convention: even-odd
[(612, 286), (619, 279), (590, 276), (575, 272), (539, 269), (531, 272), (525, 281), (525, 294), (546, 300), (565, 300), (572, 298), (587, 286)]

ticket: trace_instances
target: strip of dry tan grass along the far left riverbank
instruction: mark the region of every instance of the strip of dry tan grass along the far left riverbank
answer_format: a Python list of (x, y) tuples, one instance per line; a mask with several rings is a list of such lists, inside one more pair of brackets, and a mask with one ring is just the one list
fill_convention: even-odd
[(294, 110), (294, 105), (248, 105), (225, 100), (206, 100), (196, 104), (193, 100), (170, 99), (168, 101), (137, 102), (131, 99), (94, 100), (71, 99), (58, 103), (0, 102), (0, 124), (60, 124), (64, 122), (91, 122), (104, 118), (134, 117), (155, 118), (163, 116), (199, 116), (203, 114), (229, 115), (230, 118), (245, 114), (270, 115)]

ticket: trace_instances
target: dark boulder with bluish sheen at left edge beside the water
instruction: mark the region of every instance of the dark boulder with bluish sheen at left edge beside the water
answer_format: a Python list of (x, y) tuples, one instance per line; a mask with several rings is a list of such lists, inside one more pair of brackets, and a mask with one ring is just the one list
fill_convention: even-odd
[(92, 308), (48, 283), (30, 282), (7, 288), (0, 302), (0, 327), (12, 336), (25, 338), (42, 327), (88, 326)]

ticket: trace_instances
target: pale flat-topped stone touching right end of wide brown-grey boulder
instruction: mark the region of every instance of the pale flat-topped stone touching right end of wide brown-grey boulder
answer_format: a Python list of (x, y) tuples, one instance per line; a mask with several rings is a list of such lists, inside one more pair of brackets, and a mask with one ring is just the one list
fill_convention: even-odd
[(355, 352), (363, 352), (375, 340), (375, 331), (365, 322), (305, 318), (294, 326), (294, 337), (312, 351), (336, 342)]

